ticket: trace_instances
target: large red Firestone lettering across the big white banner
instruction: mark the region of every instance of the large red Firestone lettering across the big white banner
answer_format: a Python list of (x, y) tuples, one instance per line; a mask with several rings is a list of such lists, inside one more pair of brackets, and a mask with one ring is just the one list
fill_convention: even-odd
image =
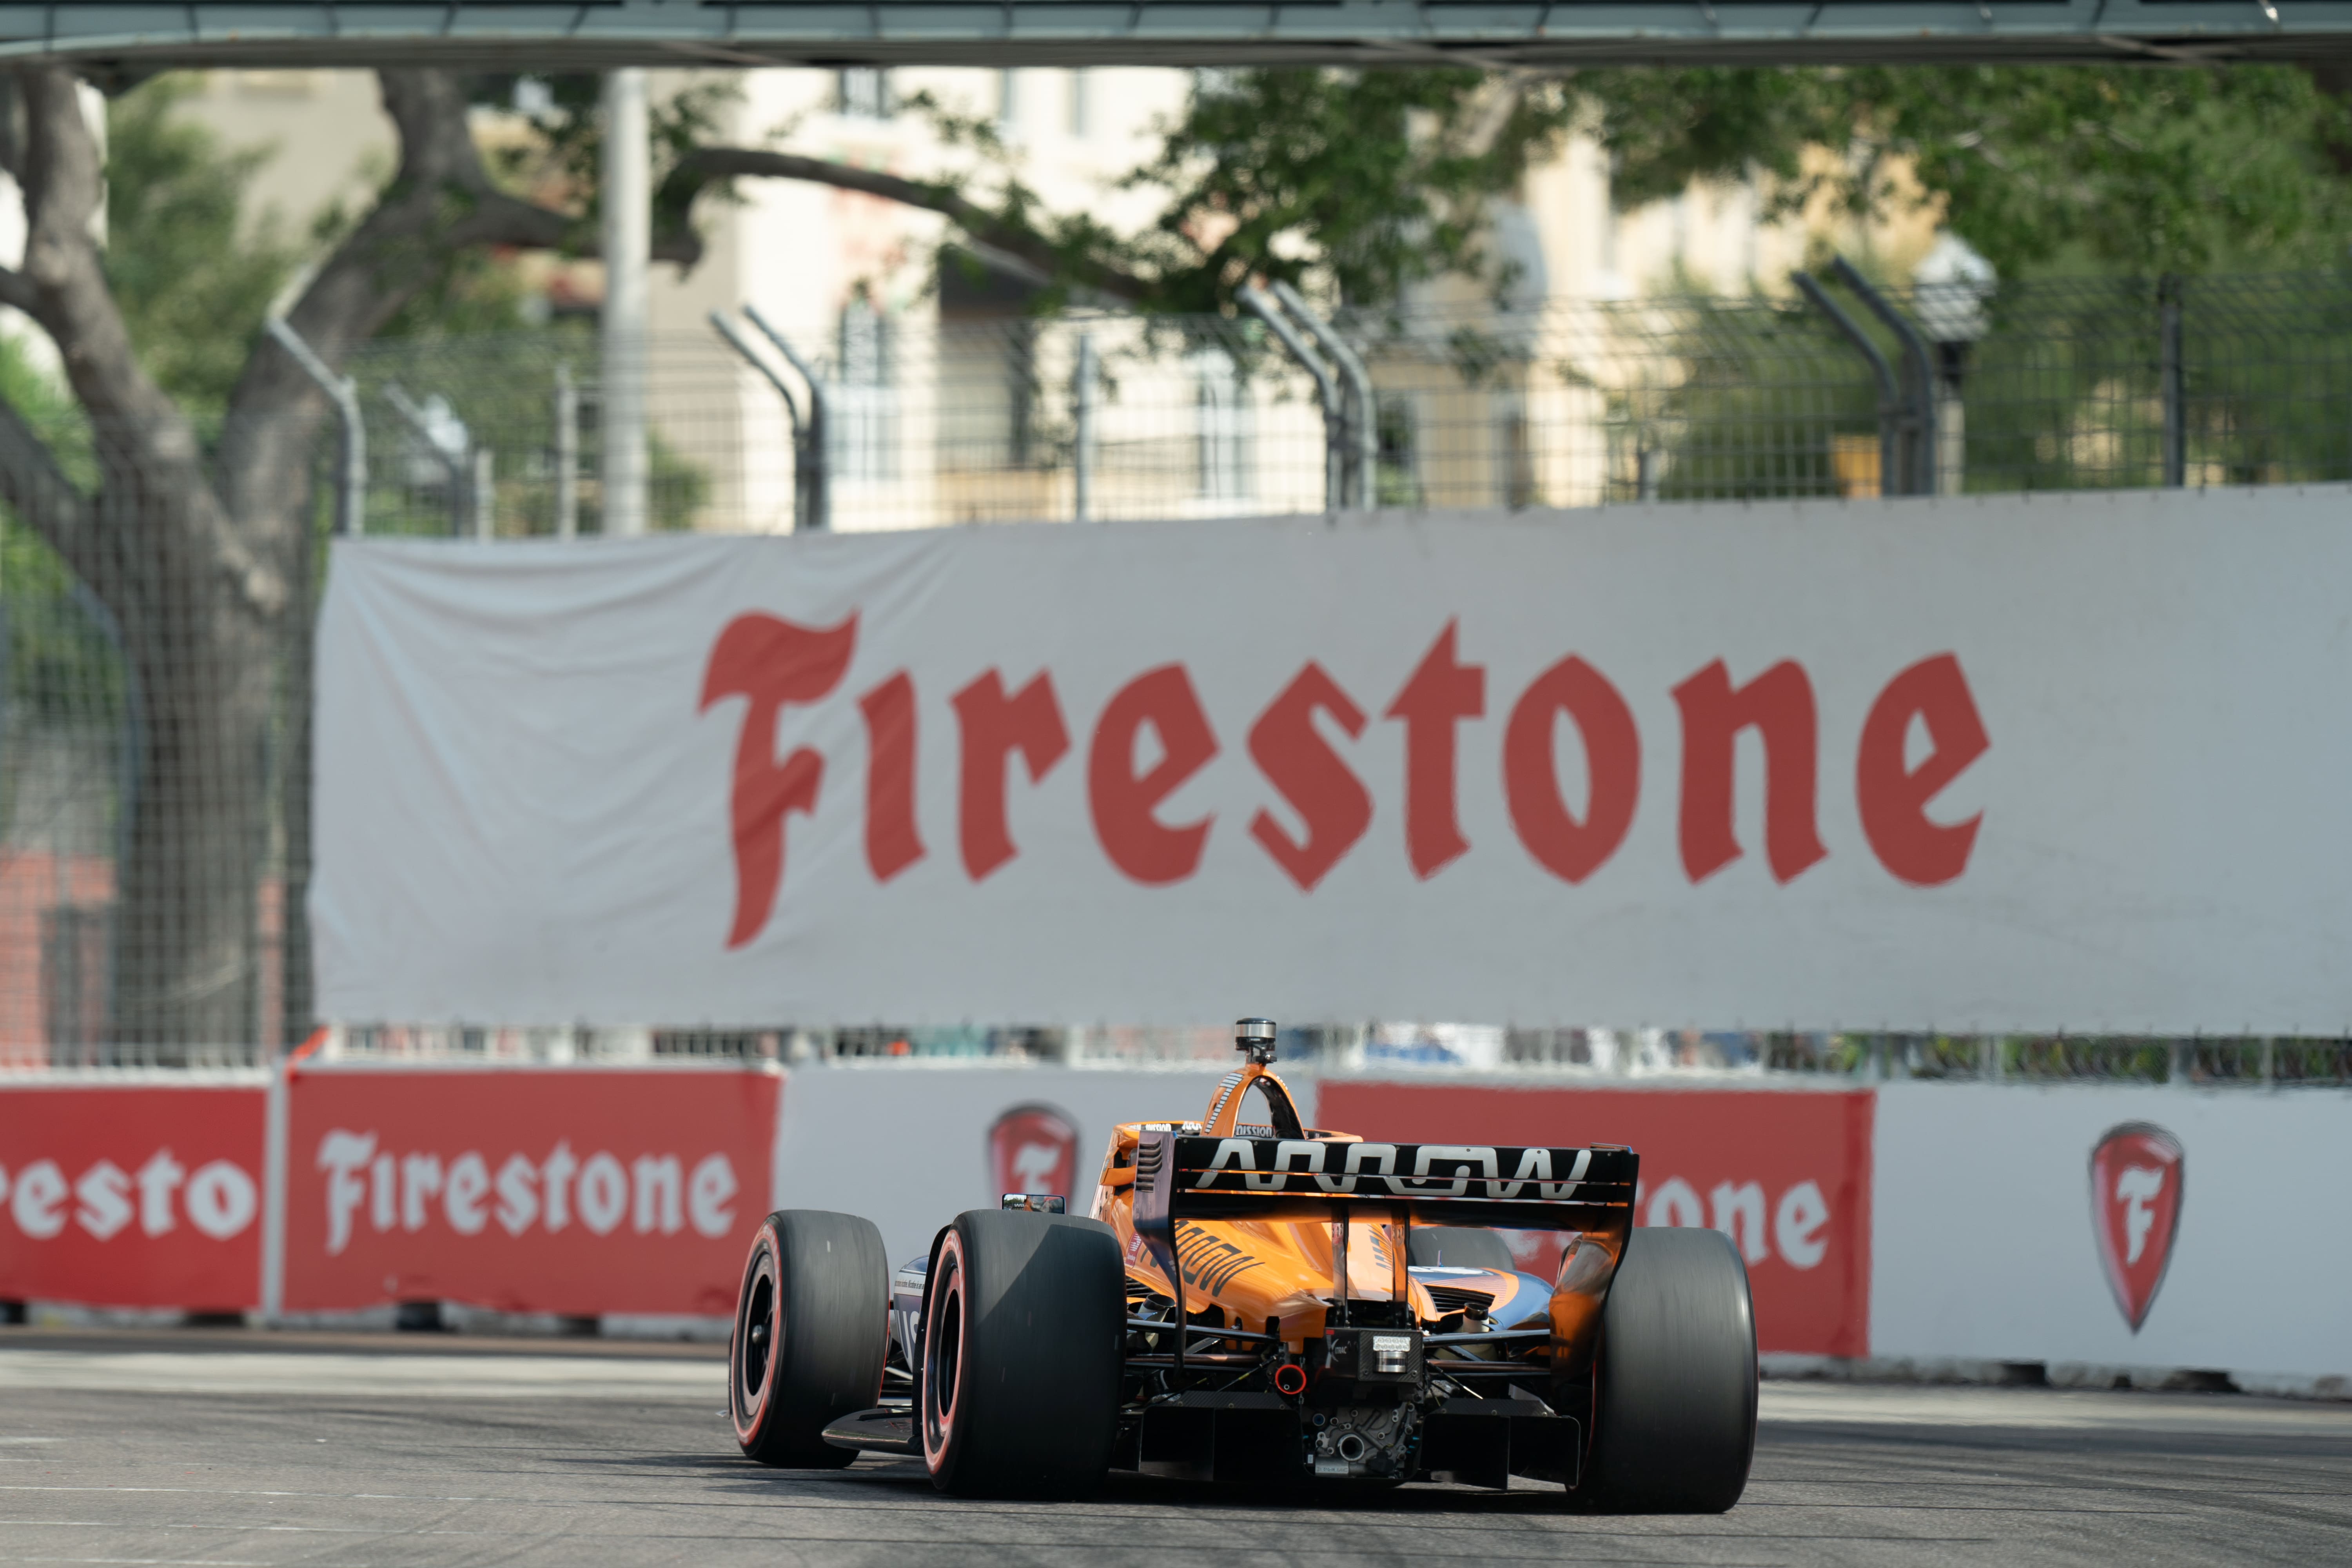
[[(809, 628), (764, 614), (736, 616), (717, 635), (703, 670), (701, 710), (743, 698), (736, 731), (729, 818), (736, 905), (727, 947), (767, 926), (783, 886), (786, 818), (811, 816), (828, 762), (809, 745), (776, 757), (786, 708), (828, 701), (849, 672), (858, 616)], [(1722, 658), (1672, 689), (1682, 715), (1682, 802), (1677, 842), (1696, 886), (1748, 851), (1733, 832), (1733, 755), (1740, 731), (1764, 741), (1764, 860), (1773, 882), (1795, 882), (1830, 856), (1818, 827), (1820, 712), (1813, 682), (1792, 658), (1733, 684)], [(898, 670), (858, 698), (866, 722), (866, 865), (877, 884), (929, 856), (915, 811), (920, 755), (915, 679)], [(1011, 863), (1007, 792), (1014, 762), (1030, 785), (1073, 750), (1051, 670), (1018, 689), (983, 670), (950, 696), (957, 722), (957, 849), (971, 882)], [(1404, 726), (1404, 853), (1421, 879), (1470, 851), (1456, 809), (1456, 750), (1463, 726), (1486, 717), (1486, 665), (1461, 656), (1461, 628), (1446, 623), (1383, 719)], [(1559, 773), (1559, 724), (1576, 729), (1585, 778)], [(1247, 729), (1249, 759), (1303, 823), (1294, 835), (1258, 811), (1249, 837), (1298, 884), (1315, 886), (1364, 839), (1374, 797), (1331, 736), (1357, 741), (1367, 710), (1338, 677), (1308, 661)], [(1150, 738), (1145, 748), (1143, 741)], [(1917, 748), (1912, 738), (1926, 745)], [(1503, 724), (1503, 795), (1519, 846), (1566, 884), (1583, 884), (1625, 844), (1642, 799), (1642, 733), (1632, 705), (1609, 677), (1569, 654), (1536, 675)], [(1983, 813), (1938, 823), (1929, 804), (1992, 748), (1955, 654), (1933, 654), (1896, 672), (1863, 717), (1853, 809), (1872, 856), (1910, 886), (1955, 882), (1976, 849)], [(1167, 823), (1160, 811), (1207, 769), (1223, 745), (1183, 663), (1167, 663), (1120, 686), (1087, 745), (1087, 809), (1103, 856), (1143, 886), (1190, 879), (1214, 816)], [(1143, 766), (1138, 757), (1150, 755)], [(1571, 802), (1581, 799), (1578, 813)]]

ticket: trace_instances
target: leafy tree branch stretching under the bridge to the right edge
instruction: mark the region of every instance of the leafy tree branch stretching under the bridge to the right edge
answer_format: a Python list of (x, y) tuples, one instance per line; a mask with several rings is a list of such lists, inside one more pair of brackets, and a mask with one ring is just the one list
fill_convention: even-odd
[[(1917, 202), (2004, 275), (2333, 263), (2352, 235), (2352, 115), (2296, 66), (1218, 73), (1127, 176), (1164, 193), (1134, 235), (1044, 212), (985, 122), (929, 99), (908, 108), (971, 146), (976, 167), (917, 181), (684, 139), (661, 188), (663, 233), (691, 252), (699, 195), (800, 179), (946, 216), (964, 249), (1044, 284), (1044, 310), (1070, 294), (1218, 310), (1251, 277), (1388, 303), (1439, 273), (1501, 282), (1486, 205), (1585, 129), (1613, 160), (1621, 207), (1693, 179), (1759, 179), (1776, 216)], [(567, 120), (564, 146), (593, 136), (583, 125)]]

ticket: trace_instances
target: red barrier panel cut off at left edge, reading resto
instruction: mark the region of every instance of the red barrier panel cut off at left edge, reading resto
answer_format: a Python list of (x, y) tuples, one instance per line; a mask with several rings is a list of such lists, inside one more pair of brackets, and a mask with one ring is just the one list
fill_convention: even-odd
[(259, 1084), (9, 1084), (0, 1298), (259, 1305), (266, 1103)]

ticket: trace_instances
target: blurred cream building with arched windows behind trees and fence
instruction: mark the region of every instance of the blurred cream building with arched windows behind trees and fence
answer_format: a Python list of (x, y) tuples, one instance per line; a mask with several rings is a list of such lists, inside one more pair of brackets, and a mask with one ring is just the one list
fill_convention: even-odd
[[(903, 68), (656, 73), (656, 101), (722, 80), (715, 134), (908, 179), (981, 167), (950, 146), (936, 115), (988, 125), (1047, 212), (1084, 212), (1141, 228), (1152, 190), (1120, 190), (1157, 132), (1183, 113), (1197, 73), (1169, 68)], [(254, 209), (287, 228), (334, 205), (358, 207), (395, 158), (367, 73), (214, 71), (183, 113), (226, 146), (263, 146)], [(477, 115), (485, 141), (513, 141), (522, 120)], [(779, 531), (795, 508), (790, 418), (774, 386), (708, 327), (713, 310), (753, 306), (818, 367), (830, 404), (835, 527), (920, 527), (1070, 517), (1077, 510), (1080, 336), (1103, 364), (1089, 421), (1091, 515), (1247, 515), (1322, 505), (1322, 421), (1305, 381), (1230, 331), (1148, 331), (1131, 320), (1040, 324), (1035, 280), (983, 259), (941, 266), (946, 219), (882, 197), (781, 179), (743, 179), (736, 200), (696, 209), (706, 242), (691, 273), (656, 266), (656, 463), (696, 470), (696, 527)], [(1404, 301), (1411, 329), (1369, 355), (1378, 390), (1383, 505), (1576, 505), (1632, 484), (1646, 494), (1639, 433), (1613, 395), (1597, 317), (1578, 301), (1665, 292), (1785, 289), (1818, 226), (1766, 221), (1752, 186), (1693, 186), (1616, 212), (1606, 155), (1571, 139), (1494, 205), (1501, 296), (1439, 280)], [(5, 237), (5, 235), (0, 235)], [(1896, 270), (1926, 247), (1931, 223), (1849, 237)], [(543, 306), (593, 310), (595, 263), (534, 259)], [(1623, 310), (1611, 322), (1623, 322)], [(1223, 331), (1223, 336), (1221, 336)], [(1465, 331), (1470, 339), (1465, 339)], [(1465, 374), (1463, 343), (1496, 353)], [(583, 388), (593, 404), (593, 388)], [(1531, 433), (1548, 433), (1536, 440)], [(1592, 440), (1562, 437), (1590, 430)], [(593, 435), (593, 414), (588, 416)], [(583, 458), (593, 473), (593, 456)], [(506, 473), (501, 468), (501, 473)], [(593, 480), (590, 491), (593, 496)]]

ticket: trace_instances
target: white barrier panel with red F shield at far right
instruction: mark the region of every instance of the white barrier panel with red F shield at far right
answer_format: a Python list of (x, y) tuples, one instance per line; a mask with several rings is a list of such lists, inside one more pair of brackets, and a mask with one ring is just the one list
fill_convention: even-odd
[(1877, 1100), (1872, 1359), (2352, 1387), (2352, 1093), (1889, 1084)]

